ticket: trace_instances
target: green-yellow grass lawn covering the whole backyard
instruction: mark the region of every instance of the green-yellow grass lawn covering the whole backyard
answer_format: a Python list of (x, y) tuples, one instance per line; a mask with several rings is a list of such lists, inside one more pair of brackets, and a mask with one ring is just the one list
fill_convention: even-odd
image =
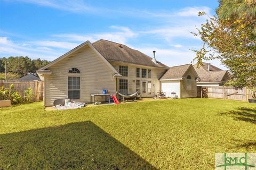
[(256, 152), (256, 105), (176, 99), (44, 111), (0, 108), (0, 169), (213, 169)]

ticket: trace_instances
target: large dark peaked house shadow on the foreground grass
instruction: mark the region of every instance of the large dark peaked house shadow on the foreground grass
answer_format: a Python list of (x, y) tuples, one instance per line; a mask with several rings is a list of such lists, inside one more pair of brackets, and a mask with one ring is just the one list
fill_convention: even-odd
[(94, 123), (0, 135), (0, 169), (156, 169)]

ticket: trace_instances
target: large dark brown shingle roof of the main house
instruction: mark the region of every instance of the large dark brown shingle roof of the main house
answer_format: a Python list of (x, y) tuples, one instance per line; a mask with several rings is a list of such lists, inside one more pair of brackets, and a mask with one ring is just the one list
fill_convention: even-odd
[(100, 39), (92, 43), (92, 45), (100, 52), (103, 57), (106, 58), (107, 61), (119, 61), (145, 66), (164, 67), (167, 69), (169, 68), (168, 66), (158, 61), (157, 64), (155, 64), (151, 57), (123, 44)]

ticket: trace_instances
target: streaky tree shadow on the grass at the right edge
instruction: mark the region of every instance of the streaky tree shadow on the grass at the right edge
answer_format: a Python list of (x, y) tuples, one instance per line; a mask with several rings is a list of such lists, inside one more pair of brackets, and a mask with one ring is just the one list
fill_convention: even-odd
[(234, 111), (220, 113), (220, 115), (229, 115), (237, 121), (245, 121), (256, 124), (256, 108), (237, 107)]

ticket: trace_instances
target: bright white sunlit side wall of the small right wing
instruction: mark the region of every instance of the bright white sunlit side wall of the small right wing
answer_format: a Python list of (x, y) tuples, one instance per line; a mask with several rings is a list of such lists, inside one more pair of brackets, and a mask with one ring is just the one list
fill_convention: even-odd
[(161, 81), (161, 89), (166, 92), (167, 97), (173, 97), (172, 92), (180, 98), (180, 81)]

